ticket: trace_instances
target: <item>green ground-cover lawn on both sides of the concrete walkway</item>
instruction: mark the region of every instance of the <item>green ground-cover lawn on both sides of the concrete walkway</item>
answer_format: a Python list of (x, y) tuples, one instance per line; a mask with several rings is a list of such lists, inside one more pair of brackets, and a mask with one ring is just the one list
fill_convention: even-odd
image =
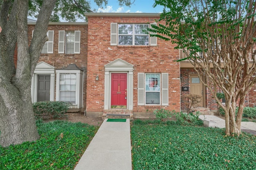
[[(136, 123), (137, 122), (137, 123)], [(0, 170), (73, 170), (98, 127), (39, 123), (36, 142), (0, 147)], [(256, 137), (226, 137), (224, 129), (132, 121), (133, 170), (256, 169)]]

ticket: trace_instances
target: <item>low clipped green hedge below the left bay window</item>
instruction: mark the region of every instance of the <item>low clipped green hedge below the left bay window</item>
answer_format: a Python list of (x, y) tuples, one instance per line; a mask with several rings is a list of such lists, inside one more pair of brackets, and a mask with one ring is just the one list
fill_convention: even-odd
[(44, 101), (33, 104), (36, 119), (50, 119), (64, 117), (70, 106), (67, 102)]

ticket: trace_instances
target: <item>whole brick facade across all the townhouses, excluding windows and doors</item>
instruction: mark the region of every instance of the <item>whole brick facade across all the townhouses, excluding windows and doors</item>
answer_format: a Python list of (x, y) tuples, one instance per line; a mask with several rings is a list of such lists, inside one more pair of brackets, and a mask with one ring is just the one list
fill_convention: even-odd
[[(53, 54), (41, 54), (40, 61), (44, 61), (54, 67), (55, 70), (66, 68), (69, 64), (76, 64), (83, 71), (82, 109), (86, 115), (101, 116), (106, 112), (111, 113), (144, 113), (147, 117), (155, 109), (165, 108), (170, 111), (186, 110), (182, 96), (190, 93), (190, 76), (197, 75), (193, 68), (182, 67), (176, 60), (179, 59), (179, 50), (175, 50), (175, 44), (157, 38), (157, 45), (124, 46), (110, 45), (111, 23), (155, 23), (159, 19), (158, 14), (114, 14), (114, 13), (88, 13), (88, 22), (84, 23), (50, 23), (48, 30), (54, 31)], [(35, 23), (28, 24), (28, 39), (32, 39), (32, 31)], [(58, 31), (80, 31), (80, 54), (58, 53)], [(16, 58), (15, 58), (16, 59)], [(106, 85), (106, 64), (111, 64), (117, 59), (132, 66), (132, 74), (129, 71), (110, 71), (127, 73), (132, 77), (128, 86), (132, 86), (130, 99), (132, 107), (125, 109), (106, 110), (106, 94), (109, 85)], [(131, 71), (131, 70), (130, 70)], [(168, 104), (141, 105), (138, 104), (138, 74), (141, 73), (168, 73)], [(54, 72), (54, 100), (56, 100), (56, 72)], [(96, 80), (98, 76), (98, 80)], [(182, 87), (187, 86), (188, 91)], [(211, 110), (217, 109), (217, 104), (210, 90), (203, 87), (204, 107)], [(162, 91), (160, 92), (162, 95)], [(246, 98), (246, 106), (254, 106), (256, 103), (256, 86)], [(108, 99), (107, 99), (108, 100)], [(131, 109), (132, 108), (132, 109)]]

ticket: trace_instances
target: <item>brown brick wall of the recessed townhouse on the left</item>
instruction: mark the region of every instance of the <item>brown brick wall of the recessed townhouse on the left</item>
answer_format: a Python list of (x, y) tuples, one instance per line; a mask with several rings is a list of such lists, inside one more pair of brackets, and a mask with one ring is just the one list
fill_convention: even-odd
[[(32, 31), (34, 30), (34, 25), (28, 25), (28, 39), (29, 42), (32, 39)], [(84, 82), (83, 82), (83, 106), (86, 105), (86, 71), (87, 71), (87, 43), (88, 43), (88, 25), (87, 23), (76, 25), (76, 23), (60, 23), (59, 25), (48, 26), (48, 30), (54, 30), (54, 47), (53, 54), (41, 54), (39, 61), (44, 61), (55, 69), (66, 68), (69, 64), (76, 64), (78, 68), (84, 71)], [(80, 32), (80, 54), (59, 54), (58, 53), (58, 31), (81, 31)], [(56, 79), (56, 76), (55, 76)], [(55, 80), (56, 82), (56, 80)], [(56, 87), (54, 89), (56, 93)], [(55, 95), (54, 95), (55, 96)], [(54, 97), (54, 100), (56, 98)]]

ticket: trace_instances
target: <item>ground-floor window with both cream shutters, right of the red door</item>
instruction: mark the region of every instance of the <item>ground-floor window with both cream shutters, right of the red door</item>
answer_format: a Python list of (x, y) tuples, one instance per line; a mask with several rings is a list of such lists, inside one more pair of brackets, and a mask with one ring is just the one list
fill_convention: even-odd
[(168, 73), (138, 73), (138, 105), (169, 105)]

